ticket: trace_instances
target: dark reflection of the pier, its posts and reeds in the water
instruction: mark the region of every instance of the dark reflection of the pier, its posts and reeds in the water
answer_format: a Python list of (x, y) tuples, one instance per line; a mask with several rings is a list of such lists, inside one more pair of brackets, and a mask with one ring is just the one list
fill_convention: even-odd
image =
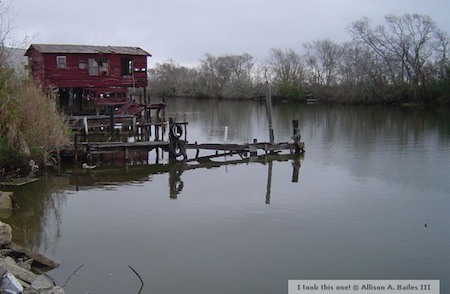
[(13, 241), (35, 250), (52, 251), (51, 244), (60, 238), (61, 208), (68, 191), (86, 190), (99, 186), (122, 185), (130, 182), (145, 182), (156, 174), (168, 174), (170, 199), (177, 199), (186, 182), (182, 176), (195, 169), (220, 168), (227, 165), (263, 164), (268, 168), (265, 203), (270, 204), (273, 162), (291, 161), (292, 181), (298, 182), (303, 155), (272, 154), (256, 157), (227, 156), (215, 161), (216, 156), (206, 156), (184, 161), (169, 161), (166, 164), (106, 166), (92, 170), (69, 169), (47, 173), (39, 181), (12, 190), (19, 208), (13, 212), (0, 214), (0, 220), (13, 228)]

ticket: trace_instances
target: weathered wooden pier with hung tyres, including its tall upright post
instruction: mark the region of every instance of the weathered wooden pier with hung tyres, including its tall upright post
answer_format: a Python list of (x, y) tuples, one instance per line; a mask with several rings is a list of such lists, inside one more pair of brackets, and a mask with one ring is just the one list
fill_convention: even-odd
[[(118, 153), (122, 153), (126, 163), (133, 160), (135, 153), (144, 153), (148, 157), (152, 150), (156, 150), (157, 160), (160, 150), (168, 152), (170, 159), (183, 157), (183, 160), (188, 159), (187, 150), (196, 150), (195, 158), (199, 157), (200, 150), (221, 152), (224, 155), (240, 154), (242, 157), (257, 156), (261, 151), (265, 155), (286, 151), (291, 154), (303, 153), (305, 145), (301, 141), (298, 120), (292, 121), (292, 142), (274, 142), (270, 97), (270, 85), (267, 84), (269, 142), (258, 142), (254, 139), (252, 143), (238, 144), (227, 143), (224, 138), (224, 143), (189, 143), (186, 116), (184, 115), (183, 121), (177, 118), (169, 118), (166, 121), (165, 103), (158, 103), (146, 106), (144, 115), (139, 118), (134, 115), (116, 115), (113, 108), (110, 109), (109, 115), (70, 117), (69, 123), (75, 132), (74, 141), (62, 154), (73, 156), (75, 163), (82, 158), (89, 164), (95, 164), (97, 156), (103, 159), (108, 154), (114, 154), (116, 157)], [(157, 111), (156, 119), (152, 120), (150, 110)], [(164, 140), (165, 137), (167, 140)]]

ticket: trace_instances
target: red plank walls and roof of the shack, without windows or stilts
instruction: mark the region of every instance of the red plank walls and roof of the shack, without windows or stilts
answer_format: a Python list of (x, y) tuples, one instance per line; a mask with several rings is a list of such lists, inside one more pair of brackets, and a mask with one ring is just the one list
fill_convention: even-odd
[[(44, 87), (146, 87), (148, 82), (147, 56), (150, 54), (140, 48), (41, 44), (31, 45), (26, 55), (34, 77)], [(65, 57), (60, 59), (60, 66), (65, 59), (64, 68), (58, 68), (58, 57)], [(131, 70), (126, 75), (123, 74), (123, 59), (131, 61)], [(95, 67), (90, 71), (89, 65)]]

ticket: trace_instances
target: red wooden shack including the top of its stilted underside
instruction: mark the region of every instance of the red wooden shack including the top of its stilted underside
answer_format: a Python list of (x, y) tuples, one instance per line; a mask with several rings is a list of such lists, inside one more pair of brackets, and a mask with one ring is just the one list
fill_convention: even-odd
[(130, 88), (143, 88), (146, 97), (151, 55), (139, 47), (32, 44), (25, 56), (35, 80), (57, 90), (69, 112), (83, 112), (86, 100), (125, 103)]

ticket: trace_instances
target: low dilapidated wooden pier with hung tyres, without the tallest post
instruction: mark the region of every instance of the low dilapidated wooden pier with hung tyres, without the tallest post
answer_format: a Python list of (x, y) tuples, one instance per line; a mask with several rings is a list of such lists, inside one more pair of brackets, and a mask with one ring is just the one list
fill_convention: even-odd
[[(124, 120), (130, 119), (128, 116), (120, 118)], [(89, 124), (88, 129), (79, 129), (80, 134), (75, 134), (73, 144), (62, 151), (63, 156), (73, 156), (75, 163), (82, 159), (84, 162), (89, 162), (89, 164), (95, 164), (96, 161), (103, 161), (105, 155), (112, 154), (115, 157), (117, 154), (123, 154), (125, 162), (135, 159), (136, 153), (140, 154), (139, 157), (147, 158), (148, 153), (155, 149), (157, 158), (159, 158), (160, 151), (162, 151), (168, 152), (171, 159), (183, 157), (183, 160), (188, 159), (187, 150), (195, 150), (195, 158), (200, 156), (201, 150), (221, 152), (223, 155), (240, 154), (243, 157), (257, 156), (261, 152), (265, 155), (283, 152), (300, 154), (305, 150), (305, 145), (301, 142), (298, 130), (298, 121), (296, 120), (293, 121), (292, 142), (258, 142), (254, 139), (252, 143), (238, 144), (227, 142), (189, 143), (186, 135), (188, 123), (186, 121), (177, 122), (172, 118), (168, 122), (144, 125), (136, 122), (124, 124), (116, 127), (115, 130), (117, 132), (111, 134), (109, 129), (105, 129), (104, 125), (99, 123), (104, 119), (104, 117), (97, 117), (96, 124)], [(151, 136), (152, 128), (154, 128), (153, 136)], [(113, 138), (113, 135), (117, 136)], [(164, 140), (165, 137), (167, 137), (167, 140)], [(111, 141), (111, 139), (116, 139), (116, 141)], [(117, 139), (120, 139), (120, 141)]]

